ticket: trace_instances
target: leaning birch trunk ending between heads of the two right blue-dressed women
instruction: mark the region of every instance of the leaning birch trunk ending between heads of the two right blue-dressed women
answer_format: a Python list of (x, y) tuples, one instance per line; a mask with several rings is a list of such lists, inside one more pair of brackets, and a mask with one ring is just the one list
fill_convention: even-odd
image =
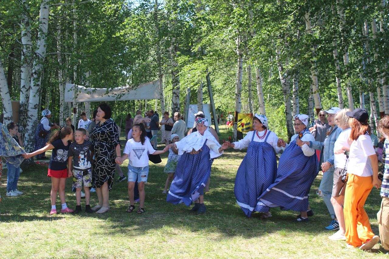
[(291, 107), (292, 106), (291, 105), (291, 90), (290, 90), (290, 82), (287, 80), (287, 75), (286, 75), (286, 72), (284, 71), (284, 67), (282, 66), (280, 56), (281, 56), (281, 51), (279, 49), (277, 49), (277, 53), (276, 53), (277, 67), (278, 67), (278, 73), (280, 76), (280, 82), (281, 82), (281, 86), (282, 86), (282, 93), (284, 94), (286, 128), (288, 131), (288, 137), (290, 139), (294, 133), (292, 107)]

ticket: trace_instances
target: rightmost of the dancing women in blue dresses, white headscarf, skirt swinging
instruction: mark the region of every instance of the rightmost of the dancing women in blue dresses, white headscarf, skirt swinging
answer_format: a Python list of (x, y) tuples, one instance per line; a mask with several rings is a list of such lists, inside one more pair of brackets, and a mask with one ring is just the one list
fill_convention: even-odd
[(277, 177), (272, 185), (259, 196), (258, 211), (266, 212), (268, 207), (282, 207), (282, 210), (299, 211), (297, 222), (308, 222), (307, 211), (309, 190), (317, 176), (319, 161), (315, 150), (303, 141), (314, 141), (315, 138), (307, 129), (308, 116), (294, 116), (294, 130), (291, 142), (285, 143), (281, 138), (277, 146), (284, 150), (280, 157)]

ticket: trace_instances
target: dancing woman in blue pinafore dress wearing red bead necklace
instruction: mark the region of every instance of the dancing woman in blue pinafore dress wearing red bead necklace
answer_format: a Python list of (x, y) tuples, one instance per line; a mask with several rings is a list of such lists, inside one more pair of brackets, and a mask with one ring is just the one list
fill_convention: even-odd
[[(247, 217), (250, 217), (253, 211), (259, 211), (258, 197), (274, 182), (277, 175), (275, 152), (281, 152), (281, 147), (277, 146), (277, 135), (267, 129), (268, 119), (265, 115), (255, 114), (252, 128), (254, 131), (247, 133), (242, 140), (231, 144), (226, 142), (234, 149), (248, 147), (247, 154), (238, 168), (234, 187), (237, 203)], [(269, 210), (263, 214), (265, 218), (271, 216)]]

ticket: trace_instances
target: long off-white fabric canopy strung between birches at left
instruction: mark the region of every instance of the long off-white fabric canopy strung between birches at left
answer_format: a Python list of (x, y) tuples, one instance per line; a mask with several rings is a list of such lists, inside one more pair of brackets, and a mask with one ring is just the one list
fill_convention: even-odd
[[(65, 101), (73, 102), (74, 84), (65, 85)], [(83, 101), (126, 101), (126, 100), (151, 100), (159, 99), (160, 91), (158, 80), (140, 84), (137, 87), (124, 86), (113, 89), (86, 88), (77, 86), (76, 102)]]

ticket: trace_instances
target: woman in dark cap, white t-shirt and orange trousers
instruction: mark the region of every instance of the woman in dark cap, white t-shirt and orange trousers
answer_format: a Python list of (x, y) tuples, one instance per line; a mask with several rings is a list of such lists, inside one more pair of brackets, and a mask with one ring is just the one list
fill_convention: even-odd
[(369, 250), (380, 238), (371, 231), (369, 217), (363, 206), (373, 186), (381, 187), (378, 179), (378, 159), (367, 134), (369, 115), (356, 108), (346, 112), (351, 127), (348, 180), (344, 195), (345, 237), (348, 245)]

